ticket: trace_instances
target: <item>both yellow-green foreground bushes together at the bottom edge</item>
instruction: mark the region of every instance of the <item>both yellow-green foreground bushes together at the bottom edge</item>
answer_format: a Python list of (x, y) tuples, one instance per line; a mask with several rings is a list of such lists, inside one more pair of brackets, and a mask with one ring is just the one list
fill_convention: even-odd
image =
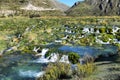
[(75, 69), (71, 69), (70, 64), (66, 63), (50, 63), (45, 69), (46, 73), (37, 80), (83, 79), (90, 76), (95, 69), (93, 63), (77, 64)]

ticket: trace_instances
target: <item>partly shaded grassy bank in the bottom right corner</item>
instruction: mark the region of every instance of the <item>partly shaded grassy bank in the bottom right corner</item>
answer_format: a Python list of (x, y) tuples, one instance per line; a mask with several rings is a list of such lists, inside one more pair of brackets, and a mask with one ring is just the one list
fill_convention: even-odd
[(97, 69), (84, 80), (119, 80), (117, 77), (120, 76), (120, 57), (117, 55), (106, 58), (95, 62)]

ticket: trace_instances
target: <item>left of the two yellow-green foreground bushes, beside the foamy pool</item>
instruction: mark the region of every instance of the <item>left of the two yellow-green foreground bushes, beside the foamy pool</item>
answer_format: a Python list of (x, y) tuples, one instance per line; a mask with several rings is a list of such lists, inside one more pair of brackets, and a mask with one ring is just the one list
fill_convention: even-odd
[(49, 64), (45, 69), (46, 73), (42, 77), (38, 78), (38, 80), (57, 80), (69, 78), (71, 75), (70, 69), (70, 65), (65, 63)]

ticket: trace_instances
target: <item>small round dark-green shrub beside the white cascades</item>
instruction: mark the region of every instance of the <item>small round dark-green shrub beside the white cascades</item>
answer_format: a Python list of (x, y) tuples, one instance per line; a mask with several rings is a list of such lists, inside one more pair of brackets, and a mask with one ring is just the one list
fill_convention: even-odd
[(80, 56), (77, 53), (71, 52), (68, 55), (68, 59), (72, 64), (76, 64), (79, 62)]

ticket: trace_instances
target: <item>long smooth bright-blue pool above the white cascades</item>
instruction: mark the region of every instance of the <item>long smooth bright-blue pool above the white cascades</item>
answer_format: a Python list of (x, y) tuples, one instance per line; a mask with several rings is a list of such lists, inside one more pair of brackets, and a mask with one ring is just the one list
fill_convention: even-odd
[(102, 47), (90, 47), (90, 46), (62, 46), (59, 48), (61, 51), (75, 52), (80, 56), (91, 55), (98, 57), (99, 55), (108, 56), (116, 54), (118, 48), (113, 45), (103, 45)]

